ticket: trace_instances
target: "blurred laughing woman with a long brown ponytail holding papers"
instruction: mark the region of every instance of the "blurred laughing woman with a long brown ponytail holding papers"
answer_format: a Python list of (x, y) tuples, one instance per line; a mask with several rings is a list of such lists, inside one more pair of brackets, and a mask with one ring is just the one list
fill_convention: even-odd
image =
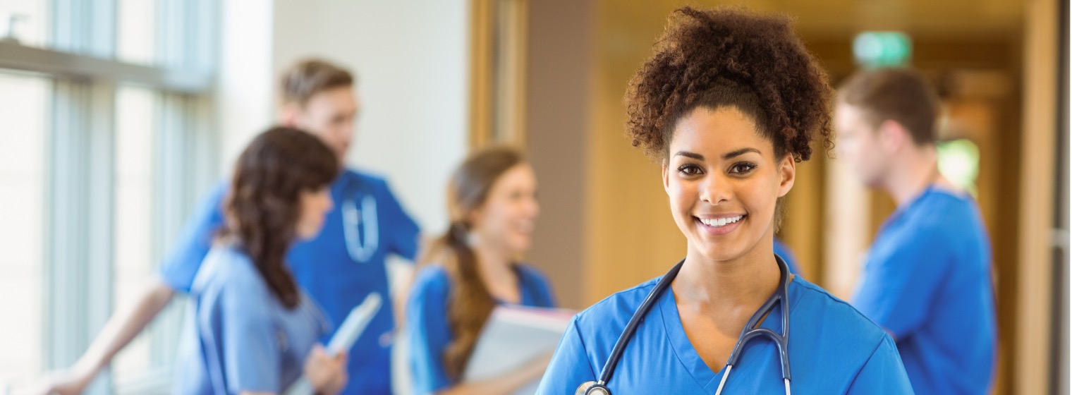
[(517, 150), (480, 150), (455, 171), (447, 205), (450, 224), (429, 246), (406, 305), (414, 390), (508, 394), (542, 376), (549, 359), (493, 380), (461, 377), (497, 305), (555, 306), (544, 275), (518, 261), (539, 214), (536, 176)]

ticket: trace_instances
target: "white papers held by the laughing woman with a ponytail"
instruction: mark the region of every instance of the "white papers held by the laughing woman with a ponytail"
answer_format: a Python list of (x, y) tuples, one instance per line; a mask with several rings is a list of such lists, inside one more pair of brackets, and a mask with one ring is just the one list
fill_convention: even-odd
[[(502, 377), (553, 352), (575, 313), (572, 310), (523, 306), (495, 308), (473, 349), (463, 380)], [(537, 384), (538, 380), (515, 394), (535, 394)]]

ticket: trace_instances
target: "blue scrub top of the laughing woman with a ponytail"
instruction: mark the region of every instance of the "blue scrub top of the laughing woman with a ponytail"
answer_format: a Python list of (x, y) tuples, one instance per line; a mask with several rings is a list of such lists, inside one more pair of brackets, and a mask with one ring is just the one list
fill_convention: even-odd
[[(554, 296), (547, 278), (528, 265), (516, 265), (521, 305), (554, 307)], [(417, 274), (406, 304), (406, 334), (410, 341), (410, 364), (413, 390), (417, 394), (434, 394), (456, 383), (447, 377), (443, 353), (455, 339), (447, 318), (450, 299), (450, 277), (441, 265), (429, 265)]]

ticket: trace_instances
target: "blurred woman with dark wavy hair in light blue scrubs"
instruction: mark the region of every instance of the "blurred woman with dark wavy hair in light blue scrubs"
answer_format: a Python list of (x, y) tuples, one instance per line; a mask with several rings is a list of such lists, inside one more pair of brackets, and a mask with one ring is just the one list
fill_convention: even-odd
[(330, 330), (284, 260), (331, 209), (336, 155), (310, 133), (273, 128), (245, 148), (224, 202), (226, 226), (191, 289), (178, 394), (282, 393), (304, 374), (318, 393), (346, 383), (346, 355), (316, 343)]

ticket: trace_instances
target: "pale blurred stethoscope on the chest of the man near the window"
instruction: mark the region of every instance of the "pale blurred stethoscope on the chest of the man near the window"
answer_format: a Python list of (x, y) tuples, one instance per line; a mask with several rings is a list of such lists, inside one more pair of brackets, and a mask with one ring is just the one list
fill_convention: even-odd
[(357, 207), (358, 198), (362, 194), (358, 193), (360, 189), (362, 188), (358, 180), (351, 180), (343, 188), (342, 231), (349, 258), (364, 263), (372, 259), (379, 246), (379, 223), (376, 220), (376, 199), (372, 193), (363, 193), (363, 196), (360, 196), (361, 208)]

